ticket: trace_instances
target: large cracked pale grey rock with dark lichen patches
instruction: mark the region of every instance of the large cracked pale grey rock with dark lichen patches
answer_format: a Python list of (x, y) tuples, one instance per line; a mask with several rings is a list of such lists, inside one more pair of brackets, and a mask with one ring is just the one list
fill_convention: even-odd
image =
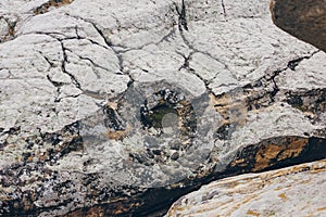
[(267, 0), (5, 0), (0, 40), (0, 215), (152, 215), (325, 157), (326, 54)]

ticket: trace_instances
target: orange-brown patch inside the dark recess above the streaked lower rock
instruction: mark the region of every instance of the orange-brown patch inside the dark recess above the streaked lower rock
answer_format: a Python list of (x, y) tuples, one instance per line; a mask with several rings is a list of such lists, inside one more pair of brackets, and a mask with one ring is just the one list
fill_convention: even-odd
[(286, 140), (281, 140), (278, 144), (263, 144), (255, 154), (253, 171), (273, 166), (271, 163), (272, 159), (279, 162), (298, 156), (308, 142), (309, 139), (306, 138), (289, 137)]

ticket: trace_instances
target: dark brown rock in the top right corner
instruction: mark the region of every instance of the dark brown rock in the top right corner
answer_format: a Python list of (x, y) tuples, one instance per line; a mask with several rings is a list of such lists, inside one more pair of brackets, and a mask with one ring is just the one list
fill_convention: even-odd
[(325, 0), (272, 0), (271, 12), (279, 28), (326, 51)]

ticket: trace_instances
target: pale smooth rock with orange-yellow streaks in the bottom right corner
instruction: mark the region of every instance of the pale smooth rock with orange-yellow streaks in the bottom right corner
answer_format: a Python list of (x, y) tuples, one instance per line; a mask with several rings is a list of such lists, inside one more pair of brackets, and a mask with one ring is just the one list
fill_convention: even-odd
[(246, 174), (203, 186), (166, 216), (325, 216), (326, 161)]

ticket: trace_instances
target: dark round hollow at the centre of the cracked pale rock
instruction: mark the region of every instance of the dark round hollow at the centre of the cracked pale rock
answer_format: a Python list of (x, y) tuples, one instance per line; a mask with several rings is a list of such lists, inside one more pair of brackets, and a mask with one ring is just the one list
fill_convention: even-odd
[(151, 128), (154, 128), (158, 135), (179, 135), (184, 140), (195, 137), (197, 130), (191, 102), (183, 93), (168, 88), (153, 92), (143, 101), (140, 105), (140, 122), (147, 133), (151, 133)]

